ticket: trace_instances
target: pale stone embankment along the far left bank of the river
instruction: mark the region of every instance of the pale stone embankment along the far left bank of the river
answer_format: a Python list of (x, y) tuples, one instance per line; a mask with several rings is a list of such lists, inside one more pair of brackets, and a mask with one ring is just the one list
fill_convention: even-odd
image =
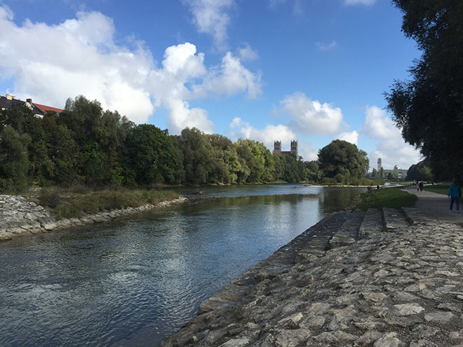
[(174, 203), (182, 203), (186, 200), (188, 199), (181, 196), (175, 200), (163, 201), (156, 205), (146, 204), (140, 207), (100, 212), (95, 215), (83, 214), (79, 218), (57, 220), (48, 209), (26, 200), (22, 196), (0, 195), (0, 241), (11, 240), (16, 236), (48, 233), (69, 226), (101, 223), (154, 208), (166, 207)]

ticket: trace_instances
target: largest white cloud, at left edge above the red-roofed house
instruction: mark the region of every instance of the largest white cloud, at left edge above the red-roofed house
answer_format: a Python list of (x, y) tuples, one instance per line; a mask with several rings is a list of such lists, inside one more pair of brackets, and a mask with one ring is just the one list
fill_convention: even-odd
[(26, 20), (18, 27), (11, 11), (0, 7), (0, 32), (0, 72), (15, 79), (15, 93), (57, 107), (83, 94), (135, 122), (154, 111), (140, 83), (153, 64), (150, 53), (116, 46), (114, 23), (105, 15), (79, 12), (60, 25)]

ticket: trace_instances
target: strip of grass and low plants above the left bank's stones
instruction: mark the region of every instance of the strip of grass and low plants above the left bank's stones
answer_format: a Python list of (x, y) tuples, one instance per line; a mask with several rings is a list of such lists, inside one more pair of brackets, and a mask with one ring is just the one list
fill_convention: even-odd
[(139, 207), (147, 203), (155, 204), (165, 200), (174, 200), (178, 194), (173, 191), (154, 189), (90, 189), (86, 186), (72, 188), (42, 188), (25, 193), (34, 196), (37, 202), (50, 207), (58, 219), (79, 217), (83, 213), (95, 214), (104, 210), (116, 210), (126, 207)]

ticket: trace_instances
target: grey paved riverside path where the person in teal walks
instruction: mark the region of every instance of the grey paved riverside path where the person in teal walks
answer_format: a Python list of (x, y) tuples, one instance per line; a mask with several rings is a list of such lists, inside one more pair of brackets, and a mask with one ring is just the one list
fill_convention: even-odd
[(463, 210), (460, 214), (455, 213), (457, 207), (454, 204), (453, 212), (449, 211), (450, 198), (448, 198), (448, 196), (431, 193), (431, 191), (417, 191), (414, 186), (408, 186), (402, 190), (407, 191), (410, 194), (415, 194), (418, 197), (415, 207), (403, 209), (415, 222), (424, 222), (435, 219), (449, 223), (463, 222)]

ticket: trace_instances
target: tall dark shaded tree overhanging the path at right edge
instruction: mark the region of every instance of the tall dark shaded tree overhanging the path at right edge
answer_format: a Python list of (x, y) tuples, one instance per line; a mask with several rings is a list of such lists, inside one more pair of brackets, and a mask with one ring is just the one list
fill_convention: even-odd
[[(463, 172), (463, 1), (393, 0), (402, 31), (422, 57), (410, 81), (395, 81), (388, 108), (406, 142), (420, 149), (439, 179)], [(461, 174), (460, 174), (461, 175)]]

